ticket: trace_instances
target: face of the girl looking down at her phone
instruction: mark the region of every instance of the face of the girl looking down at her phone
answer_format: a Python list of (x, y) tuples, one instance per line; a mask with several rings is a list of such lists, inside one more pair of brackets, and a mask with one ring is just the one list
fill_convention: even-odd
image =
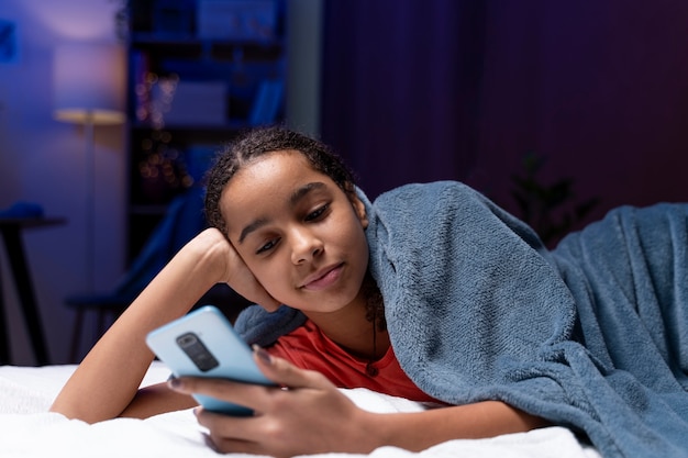
[(273, 298), (311, 317), (365, 303), (364, 204), (300, 153), (269, 153), (248, 164), (220, 205), (230, 242)]

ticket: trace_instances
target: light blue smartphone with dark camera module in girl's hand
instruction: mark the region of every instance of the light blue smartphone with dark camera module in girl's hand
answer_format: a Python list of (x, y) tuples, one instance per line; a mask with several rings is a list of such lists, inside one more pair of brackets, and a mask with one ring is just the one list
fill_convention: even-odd
[[(275, 386), (258, 369), (253, 351), (226, 317), (204, 305), (146, 336), (146, 344), (176, 377), (224, 378), (245, 383)], [(252, 415), (243, 405), (193, 394), (204, 409), (234, 416)]]

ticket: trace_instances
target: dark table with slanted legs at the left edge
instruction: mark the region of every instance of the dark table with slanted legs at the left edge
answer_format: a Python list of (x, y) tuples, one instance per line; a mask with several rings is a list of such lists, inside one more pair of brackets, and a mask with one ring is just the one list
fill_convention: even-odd
[[(26, 253), (22, 239), (22, 230), (32, 227), (53, 226), (64, 224), (59, 217), (0, 217), (0, 233), (4, 241), (10, 269), (14, 278), (16, 293), (19, 294), (21, 312), (29, 331), (29, 337), (38, 366), (49, 364), (43, 324), (38, 315), (36, 295), (33, 289), (33, 280), (29, 271)], [(4, 294), (0, 277), (0, 365), (10, 364), (10, 329), (5, 317)]]

